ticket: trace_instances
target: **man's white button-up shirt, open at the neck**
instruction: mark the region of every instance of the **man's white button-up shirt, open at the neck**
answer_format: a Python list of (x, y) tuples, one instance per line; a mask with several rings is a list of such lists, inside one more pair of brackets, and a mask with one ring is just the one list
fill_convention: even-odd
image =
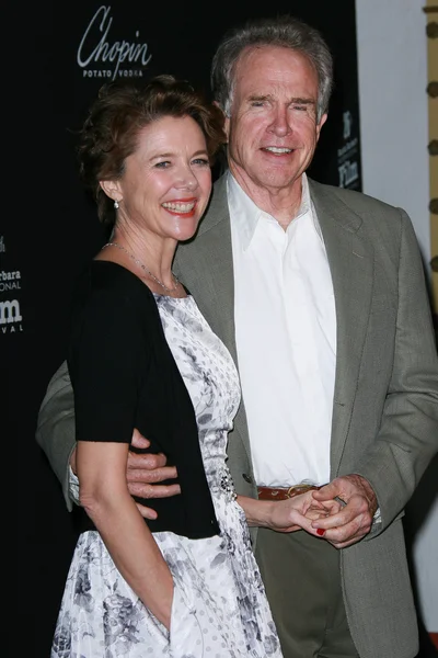
[(234, 320), (256, 484), (330, 479), (336, 317), (306, 174), (285, 231), (228, 174)]

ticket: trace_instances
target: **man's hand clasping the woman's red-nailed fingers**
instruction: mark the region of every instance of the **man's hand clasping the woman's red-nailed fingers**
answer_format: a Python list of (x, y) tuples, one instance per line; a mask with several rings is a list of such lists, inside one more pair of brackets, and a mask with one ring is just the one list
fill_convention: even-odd
[(325, 530), (324, 538), (336, 548), (359, 542), (371, 530), (378, 502), (371, 485), (360, 475), (337, 477), (312, 496), (319, 502), (337, 497), (346, 503), (339, 512), (312, 522), (313, 527)]

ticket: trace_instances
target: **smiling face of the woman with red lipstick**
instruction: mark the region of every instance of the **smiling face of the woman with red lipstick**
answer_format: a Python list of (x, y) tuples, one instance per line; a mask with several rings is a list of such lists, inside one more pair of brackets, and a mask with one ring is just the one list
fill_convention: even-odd
[(146, 126), (116, 185), (118, 220), (164, 239), (191, 238), (211, 192), (207, 146), (198, 124), (191, 116), (165, 116)]

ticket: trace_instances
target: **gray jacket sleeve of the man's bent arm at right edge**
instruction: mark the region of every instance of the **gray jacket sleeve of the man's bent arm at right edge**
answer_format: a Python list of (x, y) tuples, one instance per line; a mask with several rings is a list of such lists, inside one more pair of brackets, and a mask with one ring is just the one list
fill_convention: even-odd
[(377, 532), (402, 513), (438, 452), (438, 354), (430, 303), (414, 228), (403, 211), (401, 215), (391, 381), (380, 430), (357, 469), (378, 497), (382, 523), (376, 525)]

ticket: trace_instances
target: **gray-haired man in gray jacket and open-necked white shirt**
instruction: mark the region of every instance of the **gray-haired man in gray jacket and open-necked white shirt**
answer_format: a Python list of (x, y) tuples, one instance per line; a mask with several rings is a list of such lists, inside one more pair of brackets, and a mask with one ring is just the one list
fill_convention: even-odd
[[(281, 16), (231, 32), (211, 80), (229, 171), (175, 271), (239, 363), (234, 485), (279, 498), (330, 481), (314, 497), (346, 503), (319, 522), (321, 540), (254, 533), (285, 658), (413, 658), (401, 518), (438, 450), (438, 363), (412, 224), (400, 208), (306, 174), (332, 88), (316, 31)], [(72, 406), (64, 364), (37, 440), (67, 500)], [(164, 463), (132, 455), (130, 491), (177, 491), (150, 484), (175, 475)]]

